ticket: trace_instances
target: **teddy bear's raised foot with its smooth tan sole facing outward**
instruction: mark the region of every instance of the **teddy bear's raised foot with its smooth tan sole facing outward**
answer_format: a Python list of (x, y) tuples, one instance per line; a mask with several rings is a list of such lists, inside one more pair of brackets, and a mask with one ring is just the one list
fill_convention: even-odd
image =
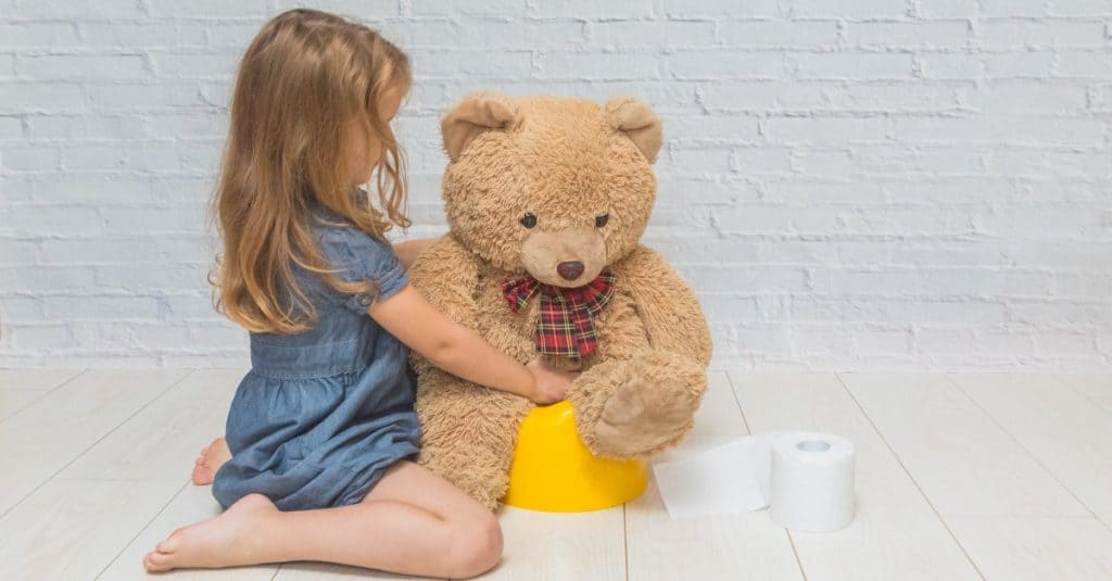
[[(617, 371), (617, 370), (615, 370)], [(594, 429), (596, 454), (646, 456), (676, 444), (694, 425), (706, 372), (693, 361), (647, 352), (624, 362)]]

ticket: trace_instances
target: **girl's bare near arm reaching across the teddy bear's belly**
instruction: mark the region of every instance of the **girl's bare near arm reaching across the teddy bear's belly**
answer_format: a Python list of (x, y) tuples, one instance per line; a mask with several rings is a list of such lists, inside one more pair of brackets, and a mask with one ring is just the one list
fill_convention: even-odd
[(367, 313), (433, 365), (539, 404), (563, 400), (577, 375), (552, 370), (536, 361), (528, 366), (522, 365), (494, 348), (478, 333), (440, 314), (410, 285), (376, 301)]

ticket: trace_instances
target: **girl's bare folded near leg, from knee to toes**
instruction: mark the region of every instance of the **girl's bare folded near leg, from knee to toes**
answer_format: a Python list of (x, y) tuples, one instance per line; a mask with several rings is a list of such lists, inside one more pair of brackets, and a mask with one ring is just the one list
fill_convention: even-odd
[(469, 578), (502, 557), (498, 521), (448, 482), (399, 463), (363, 502), (278, 511), (251, 494), (219, 516), (175, 531), (147, 554), (151, 571), (327, 561), (396, 573)]

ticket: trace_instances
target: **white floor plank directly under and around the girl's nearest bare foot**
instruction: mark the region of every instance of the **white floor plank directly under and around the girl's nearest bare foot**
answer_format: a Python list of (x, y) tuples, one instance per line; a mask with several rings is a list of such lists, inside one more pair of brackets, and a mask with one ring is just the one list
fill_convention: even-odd
[[(139, 481), (137, 485), (146, 486), (149, 481)], [(277, 564), (237, 567), (231, 569), (182, 569), (166, 574), (148, 574), (142, 568), (142, 558), (159, 541), (166, 539), (177, 529), (206, 519), (211, 519), (220, 514), (220, 504), (212, 499), (209, 486), (195, 486), (183, 480), (175, 481), (176, 494), (169, 503), (163, 503), (156, 510), (147, 514), (143, 525), (137, 528), (132, 533), (135, 539), (125, 542), (120, 548), (111, 553), (116, 557), (105, 569), (99, 581), (131, 581), (131, 580), (155, 580), (173, 579), (175, 581), (189, 580), (211, 580), (211, 581), (264, 581), (272, 578), (278, 570)], [(153, 520), (151, 520), (153, 518)], [(86, 575), (82, 579), (87, 579)], [(73, 578), (77, 579), (77, 578)]]

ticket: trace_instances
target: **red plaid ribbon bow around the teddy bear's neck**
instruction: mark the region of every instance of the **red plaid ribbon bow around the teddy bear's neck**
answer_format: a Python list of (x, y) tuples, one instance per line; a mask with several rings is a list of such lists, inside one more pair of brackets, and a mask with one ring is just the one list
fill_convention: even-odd
[(598, 339), (592, 317), (610, 299), (614, 274), (603, 270), (597, 278), (576, 288), (546, 285), (532, 276), (502, 282), (502, 292), (514, 313), (519, 312), (538, 288), (537, 351), (576, 358), (594, 353)]

